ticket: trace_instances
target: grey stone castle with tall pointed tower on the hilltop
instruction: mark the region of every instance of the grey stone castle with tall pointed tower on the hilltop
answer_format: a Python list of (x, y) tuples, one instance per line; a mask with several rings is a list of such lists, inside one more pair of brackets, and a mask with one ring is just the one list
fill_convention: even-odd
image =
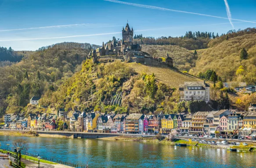
[(92, 59), (93, 62), (98, 61), (103, 56), (108, 56), (110, 59), (114, 57), (115, 59), (125, 59), (126, 61), (142, 63), (145, 65), (166, 65), (173, 67), (173, 59), (166, 54), (166, 58), (156, 58), (152, 57), (149, 53), (141, 51), (141, 45), (133, 43), (133, 28), (130, 29), (129, 24), (122, 29), (122, 40), (117, 41), (114, 37), (110, 44), (110, 49), (108, 44), (102, 43), (102, 47), (97, 49), (92, 49), (88, 55), (88, 59)]

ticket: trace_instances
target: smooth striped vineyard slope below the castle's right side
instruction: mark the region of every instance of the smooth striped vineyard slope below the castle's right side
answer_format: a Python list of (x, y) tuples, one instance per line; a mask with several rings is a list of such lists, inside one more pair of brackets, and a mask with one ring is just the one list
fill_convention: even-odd
[(155, 78), (158, 81), (172, 87), (178, 88), (179, 84), (184, 84), (185, 81), (202, 81), (198, 78), (191, 77), (185, 73), (181, 73), (180, 71), (171, 70), (169, 68), (163, 67), (151, 67), (144, 66), (139, 63), (127, 63), (128, 66), (133, 68), (137, 73), (147, 73), (147, 74), (155, 74)]

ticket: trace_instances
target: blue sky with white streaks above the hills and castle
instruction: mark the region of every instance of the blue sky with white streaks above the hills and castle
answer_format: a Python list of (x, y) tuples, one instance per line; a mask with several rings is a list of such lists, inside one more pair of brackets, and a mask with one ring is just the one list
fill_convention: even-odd
[[(134, 35), (215, 35), (256, 27), (256, 0), (0, 0), (0, 46), (36, 50), (59, 42), (101, 45)], [(250, 21), (250, 22), (249, 22)]]

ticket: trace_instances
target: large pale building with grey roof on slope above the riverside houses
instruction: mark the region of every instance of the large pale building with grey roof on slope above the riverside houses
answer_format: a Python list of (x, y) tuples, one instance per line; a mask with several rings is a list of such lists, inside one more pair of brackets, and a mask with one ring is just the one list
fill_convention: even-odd
[(191, 100), (210, 101), (210, 86), (205, 81), (184, 82), (179, 86), (180, 102)]

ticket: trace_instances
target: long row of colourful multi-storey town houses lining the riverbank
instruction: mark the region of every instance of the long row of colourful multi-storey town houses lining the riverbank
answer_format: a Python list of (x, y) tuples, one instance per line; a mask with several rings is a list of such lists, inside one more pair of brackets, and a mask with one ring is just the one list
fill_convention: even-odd
[[(200, 88), (202, 89), (202, 88)], [(200, 93), (201, 94), (201, 93)], [(31, 103), (36, 103), (36, 98)], [(64, 122), (57, 123), (57, 119)], [(126, 133), (126, 134), (162, 134), (196, 135), (205, 137), (231, 137), (235, 139), (254, 139), (256, 137), (256, 104), (251, 104), (249, 111), (238, 112), (235, 109), (222, 109), (194, 114), (116, 114), (65, 111), (58, 114), (43, 113), (6, 114), (4, 130), (69, 130), (85, 133)]]

